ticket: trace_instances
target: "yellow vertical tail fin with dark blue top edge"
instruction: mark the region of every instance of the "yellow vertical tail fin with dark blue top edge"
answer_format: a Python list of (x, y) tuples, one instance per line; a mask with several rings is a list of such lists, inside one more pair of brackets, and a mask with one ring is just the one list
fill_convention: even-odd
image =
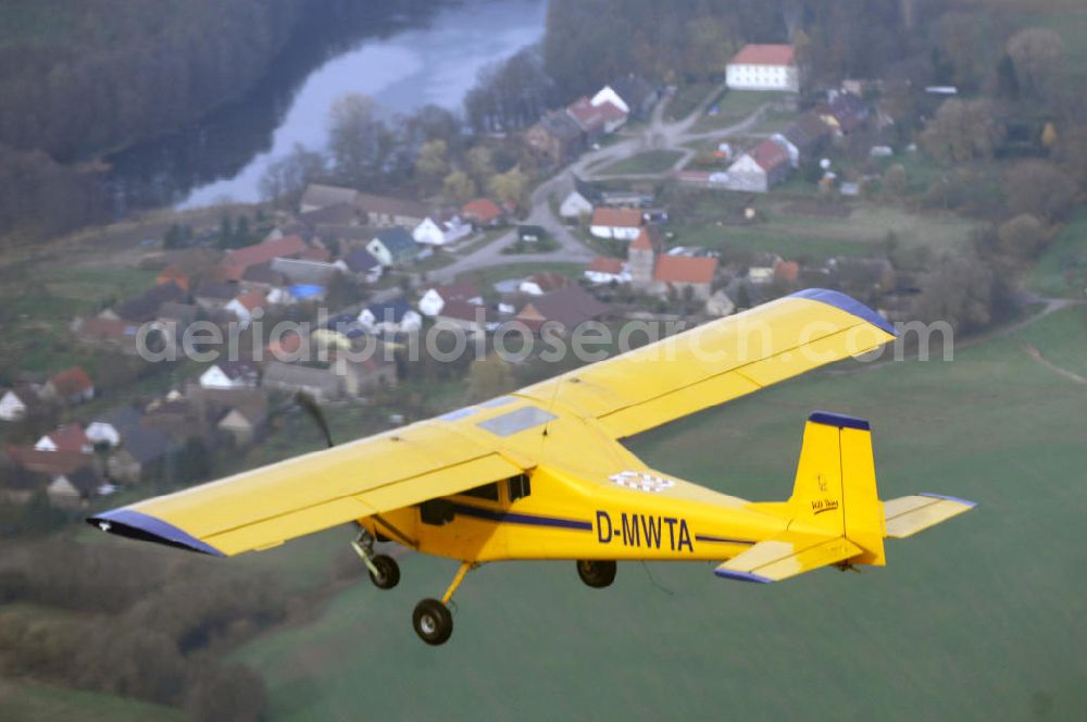
[(884, 512), (867, 421), (826, 411), (808, 418), (788, 507), (790, 531), (842, 536), (863, 549), (852, 561), (884, 564)]

